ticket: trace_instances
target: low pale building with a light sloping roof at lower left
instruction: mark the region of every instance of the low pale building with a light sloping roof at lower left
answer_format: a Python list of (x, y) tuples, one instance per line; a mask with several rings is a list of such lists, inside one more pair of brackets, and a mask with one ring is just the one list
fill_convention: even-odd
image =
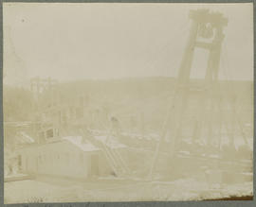
[(18, 149), (20, 170), (29, 175), (89, 179), (113, 174), (101, 148), (69, 136)]

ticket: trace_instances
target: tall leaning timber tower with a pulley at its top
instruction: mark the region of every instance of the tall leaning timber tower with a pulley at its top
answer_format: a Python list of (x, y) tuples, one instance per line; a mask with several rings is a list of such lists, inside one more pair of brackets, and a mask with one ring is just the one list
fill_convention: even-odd
[[(221, 46), (225, 37), (223, 28), (228, 25), (228, 19), (225, 18), (222, 13), (210, 12), (208, 9), (191, 10), (189, 17), (192, 20), (190, 36), (178, 71), (173, 104), (167, 113), (167, 118), (162, 129), (161, 139), (155, 150), (150, 176), (152, 176), (155, 168), (159, 148), (163, 144), (169, 129), (173, 131), (170, 154), (174, 155), (179, 148), (179, 138), (181, 137), (181, 129), (183, 127), (183, 113), (188, 105), (188, 97), (193, 90), (190, 86), (190, 80), (192, 60), (194, 50), (196, 48), (203, 48), (206, 52), (209, 52), (209, 59), (204, 83), (201, 87), (202, 93), (198, 100), (199, 111), (196, 114), (197, 121), (194, 122), (194, 137), (200, 136), (201, 123), (203, 121), (202, 113), (205, 112), (206, 107), (205, 103), (206, 100), (210, 98), (210, 95), (212, 95), (215, 88), (214, 85), (218, 80)], [(209, 139), (210, 136), (211, 134), (209, 134)]]

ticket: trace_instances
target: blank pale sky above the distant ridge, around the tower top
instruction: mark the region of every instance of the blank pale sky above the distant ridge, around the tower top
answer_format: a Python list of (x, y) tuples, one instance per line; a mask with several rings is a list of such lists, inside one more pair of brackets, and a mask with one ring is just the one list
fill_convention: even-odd
[[(4, 3), (5, 78), (176, 77), (190, 9), (229, 19), (219, 76), (252, 80), (251, 3)], [(205, 50), (195, 51), (192, 78), (204, 77), (207, 58)]]

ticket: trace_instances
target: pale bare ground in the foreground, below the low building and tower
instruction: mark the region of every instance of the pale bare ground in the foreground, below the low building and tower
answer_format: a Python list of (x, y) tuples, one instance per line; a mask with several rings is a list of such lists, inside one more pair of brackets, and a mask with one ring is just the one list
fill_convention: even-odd
[(208, 184), (206, 181), (66, 181), (38, 178), (5, 183), (5, 203), (202, 200), (252, 196), (252, 182)]

